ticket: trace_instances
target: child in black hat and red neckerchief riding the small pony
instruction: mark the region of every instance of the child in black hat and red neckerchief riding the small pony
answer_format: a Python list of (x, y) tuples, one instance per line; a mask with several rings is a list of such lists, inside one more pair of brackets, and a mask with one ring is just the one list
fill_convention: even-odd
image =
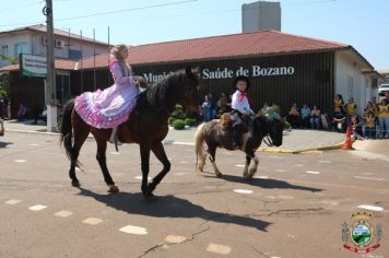
[(233, 118), (233, 148), (240, 149), (240, 133), (244, 131), (245, 126), (243, 125), (244, 116), (255, 115), (252, 112), (249, 99), (247, 96), (247, 91), (250, 87), (250, 81), (247, 77), (240, 75), (234, 80), (234, 90), (232, 99), (232, 118)]

